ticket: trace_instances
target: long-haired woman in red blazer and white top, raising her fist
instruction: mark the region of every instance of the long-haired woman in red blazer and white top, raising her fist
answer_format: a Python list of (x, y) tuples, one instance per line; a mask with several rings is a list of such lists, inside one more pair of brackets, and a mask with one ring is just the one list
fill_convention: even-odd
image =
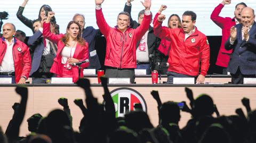
[[(57, 74), (57, 77), (73, 78), (78, 80), (78, 67), (72, 64), (89, 59), (88, 44), (81, 37), (82, 30), (78, 22), (70, 21), (66, 34), (55, 35), (50, 32), (50, 21), (54, 12), (49, 12), (44, 23), (43, 36), (58, 45), (57, 55), (53, 60), (50, 72)], [(80, 77), (83, 77), (83, 68), (89, 66), (89, 62), (81, 65)]]

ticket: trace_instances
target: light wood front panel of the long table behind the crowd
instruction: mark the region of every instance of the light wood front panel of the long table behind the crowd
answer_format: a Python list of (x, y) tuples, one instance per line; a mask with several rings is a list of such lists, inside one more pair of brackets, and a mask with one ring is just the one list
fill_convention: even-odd
[[(1, 100), (0, 100), (0, 125), (3, 130), (6, 129), (7, 124), (13, 115), (12, 105), (15, 102), (20, 102), (20, 97), (15, 93), (16, 85), (0, 85)], [(27, 103), (27, 111), (25, 119), (21, 125), (20, 136), (25, 136), (29, 133), (27, 129), (26, 120), (35, 113), (40, 113), (46, 116), (54, 108), (62, 108), (58, 104), (58, 98), (68, 98), (71, 115), (73, 116), (74, 130), (78, 130), (79, 121), (82, 119), (82, 112), (73, 103), (76, 98), (83, 98), (85, 94), (83, 90), (72, 85), (60, 84), (28, 84), (29, 97)], [(186, 97), (185, 87), (193, 90), (195, 97), (199, 94), (209, 94), (214, 103), (217, 104), (220, 114), (231, 115), (235, 114), (235, 110), (241, 107), (244, 112), (245, 108), (241, 103), (243, 97), (250, 98), (251, 107), (256, 107), (256, 85), (146, 85), (146, 84), (131, 84), (131, 85), (109, 85), (109, 90), (112, 91), (117, 88), (127, 87), (138, 91), (146, 101), (147, 113), (151, 122), (156, 126), (158, 123), (157, 103), (150, 95), (151, 90), (158, 90), (160, 98), (163, 102), (172, 100), (174, 102), (189, 101)], [(102, 103), (103, 88), (99, 84), (92, 84), (91, 89), (94, 97), (98, 98), (98, 102)], [(181, 112), (180, 127), (184, 127), (190, 115)]]

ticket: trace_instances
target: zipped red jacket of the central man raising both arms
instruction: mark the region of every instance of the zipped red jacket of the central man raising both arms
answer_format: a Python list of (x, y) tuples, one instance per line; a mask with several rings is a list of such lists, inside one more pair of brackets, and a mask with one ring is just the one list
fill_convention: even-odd
[(96, 19), (101, 33), (107, 40), (105, 65), (115, 68), (136, 68), (136, 44), (149, 29), (150, 15), (145, 15), (140, 26), (128, 28), (124, 33), (117, 27), (108, 26), (102, 9), (96, 10)]

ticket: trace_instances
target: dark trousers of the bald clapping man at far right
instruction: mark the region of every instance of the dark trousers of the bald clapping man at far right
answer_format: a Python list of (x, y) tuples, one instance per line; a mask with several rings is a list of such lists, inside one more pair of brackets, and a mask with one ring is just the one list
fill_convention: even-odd
[(230, 73), (230, 74), (231, 74), (231, 83), (232, 84), (243, 84), (244, 78), (255, 78), (256, 77), (255, 74), (249, 74), (249, 75), (242, 74), (239, 67), (235, 74), (233, 74), (233, 73)]

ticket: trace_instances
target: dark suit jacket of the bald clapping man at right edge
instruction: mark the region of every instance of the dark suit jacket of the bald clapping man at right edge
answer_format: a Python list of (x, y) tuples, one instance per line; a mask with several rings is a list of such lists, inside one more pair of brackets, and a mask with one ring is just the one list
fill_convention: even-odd
[(249, 31), (249, 40), (242, 40), (242, 24), (237, 24), (237, 38), (234, 45), (230, 44), (230, 37), (225, 43), (227, 50), (234, 49), (228, 63), (228, 72), (235, 74), (238, 67), (242, 74), (249, 75), (256, 73), (256, 24), (252, 25)]

